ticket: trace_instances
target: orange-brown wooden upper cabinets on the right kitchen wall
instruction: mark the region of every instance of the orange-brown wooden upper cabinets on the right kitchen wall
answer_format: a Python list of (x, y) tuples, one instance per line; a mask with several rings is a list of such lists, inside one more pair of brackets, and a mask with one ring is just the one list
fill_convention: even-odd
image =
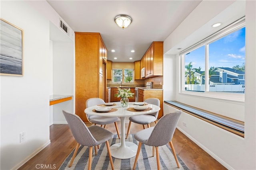
[(146, 68), (146, 77), (163, 75), (164, 42), (154, 41), (142, 57), (140, 68)]

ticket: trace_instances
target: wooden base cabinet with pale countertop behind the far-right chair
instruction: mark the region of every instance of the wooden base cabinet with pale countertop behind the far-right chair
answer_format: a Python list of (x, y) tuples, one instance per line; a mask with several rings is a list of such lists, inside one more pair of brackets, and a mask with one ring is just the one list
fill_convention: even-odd
[(138, 89), (138, 102), (143, 102), (148, 98), (158, 98), (160, 100), (160, 110), (158, 119), (163, 116), (163, 90), (142, 90)]

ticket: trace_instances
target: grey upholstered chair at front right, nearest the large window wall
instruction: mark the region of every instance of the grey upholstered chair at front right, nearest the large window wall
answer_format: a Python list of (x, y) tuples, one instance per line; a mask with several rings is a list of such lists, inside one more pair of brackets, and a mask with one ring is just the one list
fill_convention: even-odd
[(164, 115), (159, 119), (159, 121), (156, 123), (154, 127), (143, 129), (134, 135), (134, 138), (137, 141), (139, 141), (138, 150), (137, 150), (137, 154), (136, 154), (136, 158), (133, 166), (134, 170), (136, 168), (136, 163), (138, 160), (138, 156), (139, 156), (140, 148), (142, 144), (153, 147), (153, 156), (154, 156), (154, 150), (156, 149), (156, 163), (157, 163), (158, 170), (160, 170), (158, 147), (166, 145), (168, 143), (172, 149), (172, 153), (175, 158), (176, 164), (178, 168), (180, 168), (180, 165), (176, 156), (176, 152), (172, 145), (172, 137), (176, 129), (176, 126), (178, 124), (180, 115), (181, 115), (181, 111), (176, 111), (174, 113), (169, 113), (167, 115)]

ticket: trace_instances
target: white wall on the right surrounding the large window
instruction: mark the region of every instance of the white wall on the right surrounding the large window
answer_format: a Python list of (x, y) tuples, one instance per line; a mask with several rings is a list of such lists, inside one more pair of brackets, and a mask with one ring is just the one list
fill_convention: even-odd
[[(206, 1), (207, 2), (207, 1)], [(206, 3), (204, 2), (204, 3)], [(212, 1), (214, 2), (214, 1)], [(219, 6), (222, 6), (222, 1), (216, 2)], [(199, 6), (200, 7), (200, 6)], [(205, 6), (209, 10), (215, 11), (214, 5)], [(171, 60), (170, 67), (176, 65), (175, 75), (171, 73), (171, 76), (166, 76), (170, 74), (170, 72), (164, 69), (164, 88), (172, 86), (172, 82), (176, 82), (176, 87), (173, 88), (175, 93), (167, 94), (168, 91), (164, 89), (164, 100), (176, 100), (178, 102), (182, 102), (188, 105), (192, 105), (195, 107), (199, 107), (205, 110), (210, 110), (215, 113), (222, 114), (230, 114), (236, 115), (239, 119), (244, 119), (245, 122), (245, 137), (239, 137), (234, 135), (233, 133), (229, 133), (223, 129), (220, 129), (210, 123), (206, 123), (196, 117), (188, 115), (186, 113), (182, 113), (180, 117), (180, 121), (178, 123), (178, 129), (182, 131), (185, 135), (187, 135), (190, 139), (192, 139), (195, 143), (197, 143), (202, 149), (208, 152), (211, 156), (213, 156), (218, 162), (224, 165), (228, 169), (236, 169), (236, 170), (255, 170), (256, 169), (256, 1), (246, 1), (246, 92), (245, 92), (245, 102), (231, 102), (217, 99), (206, 99), (200, 96), (188, 96), (182, 95), (179, 93), (179, 59), (178, 55), (176, 55), (176, 61), (173, 62), (173, 56), (165, 55), (164, 63), (167, 65), (166, 61)], [(200, 8), (196, 8), (193, 12), (200, 14), (202, 11)], [(216, 10), (218, 11), (219, 8)], [(217, 15), (218, 13), (216, 13)], [(204, 15), (210, 21), (213, 16)], [(189, 17), (188, 17), (189, 18)], [(198, 20), (198, 18), (190, 18), (190, 20), (185, 21), (183, 23), (184, 27), (186, 25), (190, 25), (194, 20)], [(200, 29), (204, 25), (201, 23), (196, 27)], [(194, 26), (193, 25), (193, 29)], [(180, 29), (184, 29), (181, 27)], [(169, 51), (171, 48), (175, 47), (177, 43), (183, 41), (184, 37), (182, 32), (178, 33), (174, 31), (166, 41), (165, 44), (165, 52)], [(189, 31), (188, 31), (189, 32)], [(178, 33), (178, 34), (177, 34)], [(192, 32), (191, 32), (192, 33)], [(187, 35), (190, 36), (190, 35)], [(192, 45), (192, 44), (191, 44)], [(174, 65), (172, 65), (175, 63)], [(166, 80), (171, 78), (171, 80)], [(169, 84), (168, 84), (169, 83)], [(164, 114), (175, 111), (175, 109), (171, 108), (164, 104)], [(182, 126), (182, 122), (186, 122), (186, 127)]]

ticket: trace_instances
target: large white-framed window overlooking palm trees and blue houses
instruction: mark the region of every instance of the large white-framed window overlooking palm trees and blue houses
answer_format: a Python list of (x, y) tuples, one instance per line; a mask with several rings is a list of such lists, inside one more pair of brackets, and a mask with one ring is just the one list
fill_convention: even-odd
[(244, 101), (245, 18), (180, 53), (181, 93)]

